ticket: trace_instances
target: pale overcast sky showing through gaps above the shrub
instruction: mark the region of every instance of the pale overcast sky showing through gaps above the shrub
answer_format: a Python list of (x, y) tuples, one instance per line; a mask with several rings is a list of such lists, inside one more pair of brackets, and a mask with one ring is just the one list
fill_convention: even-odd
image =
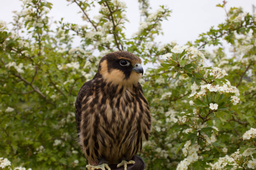
[[(159, 8), (159, 5), (167, 5), (171, 10), (171, 17), (162, 23), (164, 35), (159, 35), (157, 42), (170, 42), (176, 40), (179, 45), (187, 41), (194, 41), (202, 32), (210, 29), (210, 26), (217, 26), (225, 20), (225, 11), (216, 7), (223, 0), (150, 0), (152, 12)], [(84, 25), (84, 21), (77, 14), (79, 8), (75, 5), (67, 6), (66, 0), (49, 0), (53, 8), (49, 14), (52, 20), (59, 20)], [(130, 23), (126, 24), (126, 35), (129, 37), (138, 30), (139, 10), (137, 0), (125, 0), (127, 5), (127, 17)], [(252, 5), (255, 0), (228, 0), (227, 9), (230, 7), (243, 7), (244, 11), (252, 13)], [(20, 0), (0, 0), (0, 20), (12, 21), (12, 11), (20, 11)], [(97, 13), (97, 10), (93, 11)], [(78, 46), (78, 45), (75, 45)]]

